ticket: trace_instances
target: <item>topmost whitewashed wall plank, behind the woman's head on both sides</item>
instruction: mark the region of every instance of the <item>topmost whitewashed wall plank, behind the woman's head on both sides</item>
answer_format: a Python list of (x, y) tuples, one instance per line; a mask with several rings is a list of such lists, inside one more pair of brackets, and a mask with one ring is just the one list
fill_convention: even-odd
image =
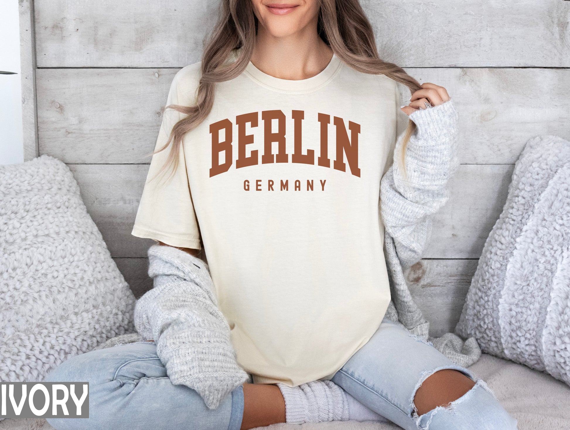
[[(184, 67), (218, 2), (36, 0), (39, 67)], [(381, 58), (402, 67), (570, 66), (570, 3), (363, 0)]]

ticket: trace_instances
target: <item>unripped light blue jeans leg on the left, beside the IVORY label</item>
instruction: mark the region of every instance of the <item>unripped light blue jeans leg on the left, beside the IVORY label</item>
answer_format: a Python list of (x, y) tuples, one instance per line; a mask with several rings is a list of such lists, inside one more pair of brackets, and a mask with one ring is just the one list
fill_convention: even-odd
[(239, 430), (243, 388), (208, 409), (192, 388), (173, 385), (154, 342), (89, 351), (64, 361), (50, 382), (89, 382), (88, 418), (48, 418), (56, 430)]

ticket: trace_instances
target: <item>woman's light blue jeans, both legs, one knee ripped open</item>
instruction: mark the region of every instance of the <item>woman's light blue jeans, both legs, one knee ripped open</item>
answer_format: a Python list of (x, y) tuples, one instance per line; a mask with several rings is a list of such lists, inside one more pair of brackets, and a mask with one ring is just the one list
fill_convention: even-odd
[[(332, 380), (378, 414), (408, 430), (514, 430), (516, 420), (500, 406), (482, 380), (446, 407), (417, 416), (413, 398), (427, 376), (454, 365), (428, 342), (386, 318), (368, 343)], [(48, 418), (57, 430), (239, 430), (243, 389), (236, 388), (216, 409), (196, 391), (173, 385), (154, 342), (117, 345), (77, 355), (46, 378), (89, 382), (89, 418)]]

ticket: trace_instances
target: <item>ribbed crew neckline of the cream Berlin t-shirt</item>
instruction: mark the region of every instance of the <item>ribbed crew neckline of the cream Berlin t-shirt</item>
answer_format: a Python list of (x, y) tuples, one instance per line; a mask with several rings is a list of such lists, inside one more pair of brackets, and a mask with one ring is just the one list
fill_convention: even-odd
[[(234, 50), (234, 56), (237, 58), (239, 50)], [(336, 73), (340, 70), (343, 63), (333, 53), (331, 61), (327, 64), (320, 73), (315, 76), (308, 77), (307, 79), (291, 80), (281, 79), (279, 77), (267, 75), (260, 71), (252, 62), (249, 62), (244, 70), (245, 74), (258, 84), (274, 89), (275, 91), (282, 91), (288, 93), (307, 93), (315, 91), (328, 84)]]

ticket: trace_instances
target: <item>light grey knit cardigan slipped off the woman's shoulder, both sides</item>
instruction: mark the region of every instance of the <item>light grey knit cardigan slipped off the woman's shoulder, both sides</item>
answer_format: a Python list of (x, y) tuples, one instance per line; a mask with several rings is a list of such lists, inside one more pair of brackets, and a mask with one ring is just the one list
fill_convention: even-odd
[[(430, 216), (449, 197), (446, 184), (457, 168), (457, 111), (449, 100), (418, 110), (409, 118), (417, 129), (406, 150), (407, 179), (395, 162), (380, 186), (392, 293), (386, 317), (428, 338), (429, 324), (412, 299), (403, 271), (420, 260), (430, 236)], [(394, 149), (396, 159), (401, 144), (402, 136)], [(158, 357), (172, 382), (193, 388), (209, 408), (215, 408), (248, 375), (236, 361), (209, 268), (197, 257), (173, 247), (153, 245), (148, 255), (154, 288), (137, 302), (135, 327), (143, 339), (157, 342)], [(464, 343), (457, 335), (447, 333), (429, 340), (463, 366), (481, 355), (474, 339)]]

